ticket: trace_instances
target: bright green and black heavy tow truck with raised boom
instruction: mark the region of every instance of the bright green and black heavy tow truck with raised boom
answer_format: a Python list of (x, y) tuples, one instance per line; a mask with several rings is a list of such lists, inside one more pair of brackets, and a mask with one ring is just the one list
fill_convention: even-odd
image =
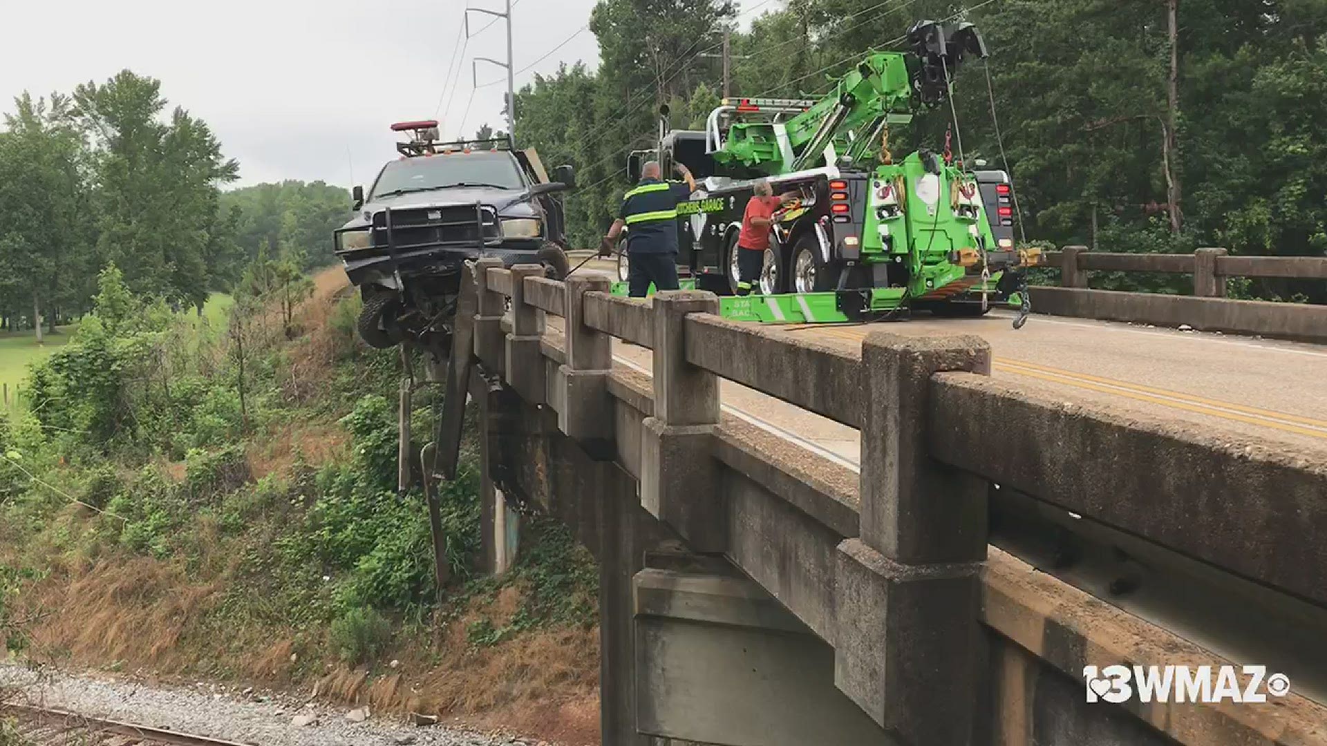
[[(971, 24), (921, 21), (909, 52), (873, 52), (820, 100), (725, 100), (705, 131), (669, 130), (648, 158), (665, 173), (686, 165), (698, 190), (678, 204), (682, 287), (721, 295), (725, 316), (762, 323), (843, 323), (908, 311), (981, 316), (1031, 308), (1023, 269), (1035, 250), (1014, 244), (1013, 185), (998, 170), (969, 170), (920, 150), (896, 162), (890, 125), (950, 101), (963, 60), (987, 57)], [(755, 179), (796, 202), (776, 215), (759, 295), (736, 296), (738, 232)], [(625, 240), (625, 238), (624, 238)], [(630, 258), (618, 246), (626, 292)]]

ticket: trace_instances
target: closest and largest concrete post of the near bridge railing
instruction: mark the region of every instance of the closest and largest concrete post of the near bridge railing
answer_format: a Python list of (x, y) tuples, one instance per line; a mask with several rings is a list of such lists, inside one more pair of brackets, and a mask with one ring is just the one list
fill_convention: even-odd
[(926, 423), (932, 376), (989, 374), (990, 346), (874, 333), (861, 364), (861, 531), (839, 546), (835, 684), (904, 743), (967, 743), (989, 486), (932, 459)]

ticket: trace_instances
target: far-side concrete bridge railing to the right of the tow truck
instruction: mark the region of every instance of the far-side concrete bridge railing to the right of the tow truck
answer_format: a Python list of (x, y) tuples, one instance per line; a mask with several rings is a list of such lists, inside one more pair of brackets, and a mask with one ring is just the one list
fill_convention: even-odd
[[(1068, 246), (1047, 252), (1046, 259), (1060, 269), (1060, 285), (1032, 288), (1032, 308), (1042, 313), (1327, 341), (1327, 305), (1225, 297), (1227, 277), (1327, 280), (1327, 258), (1229, 256), (1223, 248), (1200, 248), (1193, 255), (1108, 254)], [(1093, 271), (1193, 275), (1194, 295), (1088, 289)]]

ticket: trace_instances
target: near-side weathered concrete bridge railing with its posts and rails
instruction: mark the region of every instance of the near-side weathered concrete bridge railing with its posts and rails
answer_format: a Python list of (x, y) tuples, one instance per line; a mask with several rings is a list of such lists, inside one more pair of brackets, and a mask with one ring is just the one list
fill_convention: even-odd
[[(622, 299), (604, 279), (555, 283), (500, 260), (480, 261), (476, 279), (480, 362), (556, 410), (585, 453), (636, 477), (641, 504), (694, 550), (727, 555), (833, 645), (839, 689), (914, 742), (959, 743), (970, 727), (937, 708), (974, 697), (974, 620), (1013, 625), (998, 631), (1022, 642), (1019, 613), (993, 617), (979, 589), (990, 603), (990, 584), (1010, 576), (1005, 564), (983, 571), (993, 485), (1327, 605), (1327, 542), (1311, 539), (1327, 535), (1327, 466), (1307, 453), (994, 380), (978, 337), (877, 332), (843, 350), (727, 321), (710, 293)], [(506, 345), (486, 296), (511, 300)], [(560, 346), (544, 313), (564, 319)], [(653, 350), (648, 390), (614, 370), (614, 338)], [(722, 414), (721, 378), (857, 429), (856, 488), (835, 496), (841, 467), (739, 434)], [(726, 470), (809, 523), (772, 536), (774, 508), (733, 491)], [(1026, 613), (1070, 613), (1023, 603)], [(1076, 678), (1096, 632), (1080, 619), (1058, 624), (1082, 637), (1079, 654), (1055, 661)], [(905, 673), (916, 670), (932, 674)], [(1176, 706), (1140, 717), (1176, 737), (1246, 721)], [(937, 722), (953, 730), (937, 734)]]

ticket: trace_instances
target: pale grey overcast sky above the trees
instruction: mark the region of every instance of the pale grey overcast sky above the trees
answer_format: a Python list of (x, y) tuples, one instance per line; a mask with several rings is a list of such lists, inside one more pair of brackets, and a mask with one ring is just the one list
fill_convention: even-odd
[[(439, 110), (462, 8), (502, 9), (504, 0), (4, 0), (0, 110), (23, 90), (68, 93), (129, 68), (162, 81), (171, 106), (202, 117), (240, 185), (279, 179), (362, 183), (394, 155), (393, 121), (438, 118), (455, 134), (471, 93), (475, 54), (506, 56), (503, 24), (475, 36), (458, 64), (451, 106)], [(518, 0), (516, 69), (589, 20), (594, 0)], [(762, 9), (775, 3), (742, 0)], [(472, 13), (471, 28), (491, 19)], [(592, 33), (518, 76), (516, 86), (559, 62), (598, 64)], [(455, 70), (454, 70), (455, 74)], [(506, 70), (479, 65), (480, 85)], [(480, 88), (466, 131), (502, 126), (504, 85)], [(353, 165), (353, 171), (352, 171)]]

